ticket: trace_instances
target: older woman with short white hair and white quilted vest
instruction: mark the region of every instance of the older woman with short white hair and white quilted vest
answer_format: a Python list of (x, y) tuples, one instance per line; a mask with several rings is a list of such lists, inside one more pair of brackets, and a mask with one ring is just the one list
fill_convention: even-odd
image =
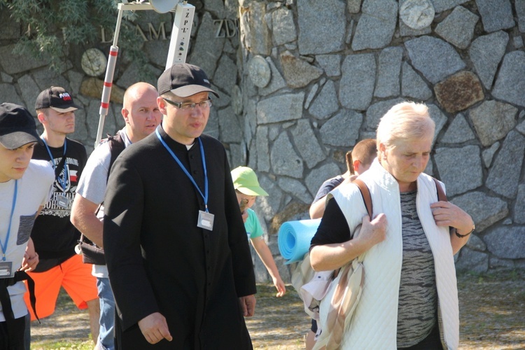
[(439, 201), (435, 181), (423, 174), (434, 132), (424, 104), (396, 104), (377, 127), (377, 158), (359, 176), (370, 189), (372, 221), (357, 186), (339, 186), (327, 202), (311, 240), (312, 267), (338, 269), (365, 253), (363, 292), (342, 349), (458, 348), (454, 254), (474, 222)]

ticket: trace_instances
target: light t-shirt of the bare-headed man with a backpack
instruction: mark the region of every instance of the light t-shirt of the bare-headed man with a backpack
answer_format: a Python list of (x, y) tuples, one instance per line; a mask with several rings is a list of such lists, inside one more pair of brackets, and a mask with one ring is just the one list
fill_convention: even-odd
[[(125, 146), (130, 146), (131, 141), (127, 138), (125, 128), (119, 131), (120, 137), (123, 138)], [(111, 151), (109, 142), (104, 141), (91, 153), (90, 158), (84, 167), (76, 193), (94, 204), (104, 202), (106, 187), (108, 184), (109, 163), (111, 162)], [(100, 221), (104, 218), (104, 206), (97, 213)], [(108, 268), (106, 265), (93, 265), (92, 275), (95, 277), (107, 277)]]

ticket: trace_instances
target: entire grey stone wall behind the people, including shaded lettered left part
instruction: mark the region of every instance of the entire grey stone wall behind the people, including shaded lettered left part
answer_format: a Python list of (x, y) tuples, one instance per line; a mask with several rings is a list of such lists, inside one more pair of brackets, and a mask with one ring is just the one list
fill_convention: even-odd
[[(457, 255), (459, 270), (525, 267), (524, 0), (197, 0), (187, 61), (221, 94), (206, 132), (225, 144), (230, 165), (258, 173), (269, 197), (255, 211), (285, 281), (276, 232), (307, 218), (316, 190), (344, 172), (344, 154), (374, 137), (379, 118), (403, 100), (424, 102), (436, 122), (426, 172), (468, 211), (477, 231)], [(165, 66), (173, 14), (139, 13), (146, 66), (119, 53), (104, 132), (123, 126), (126, 87), (155, 85)], [(33, 112), (36, 95), (62, 85), (84, 109), (74, 139), (92, 150), (104, 73), (70, 50), (62, 70), (13, 54), (26, 28), (2, 11), (0, 100)], [(164, 25), (162, 24), (164, 23)], [(165, 36), (155, 36), (164, 26)], [(255, 258), (258, 281), (267, 272)]]

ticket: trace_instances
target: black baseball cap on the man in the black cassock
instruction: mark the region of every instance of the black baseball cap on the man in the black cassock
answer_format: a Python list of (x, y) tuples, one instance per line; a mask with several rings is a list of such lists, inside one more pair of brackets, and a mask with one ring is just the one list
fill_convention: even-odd
[(211, 90), (208, 76), (200, 67), (193, 64), (177, 63), (160, 75), (157, 83), (159, 94), (173, 92), (179, 97), (188, 97), (199, 92), (217, 92)]

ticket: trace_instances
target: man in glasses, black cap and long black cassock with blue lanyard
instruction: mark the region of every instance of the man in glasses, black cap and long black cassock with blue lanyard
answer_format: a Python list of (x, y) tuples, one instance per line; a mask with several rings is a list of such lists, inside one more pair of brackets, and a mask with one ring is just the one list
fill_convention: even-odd
[(218, 95), (191, 64), (162, 73), (158, 91), (162, 125), (116, 160), (105, 198), (118, 346), (252, 349), (246, 230), (225, 149), (202, 134)]

